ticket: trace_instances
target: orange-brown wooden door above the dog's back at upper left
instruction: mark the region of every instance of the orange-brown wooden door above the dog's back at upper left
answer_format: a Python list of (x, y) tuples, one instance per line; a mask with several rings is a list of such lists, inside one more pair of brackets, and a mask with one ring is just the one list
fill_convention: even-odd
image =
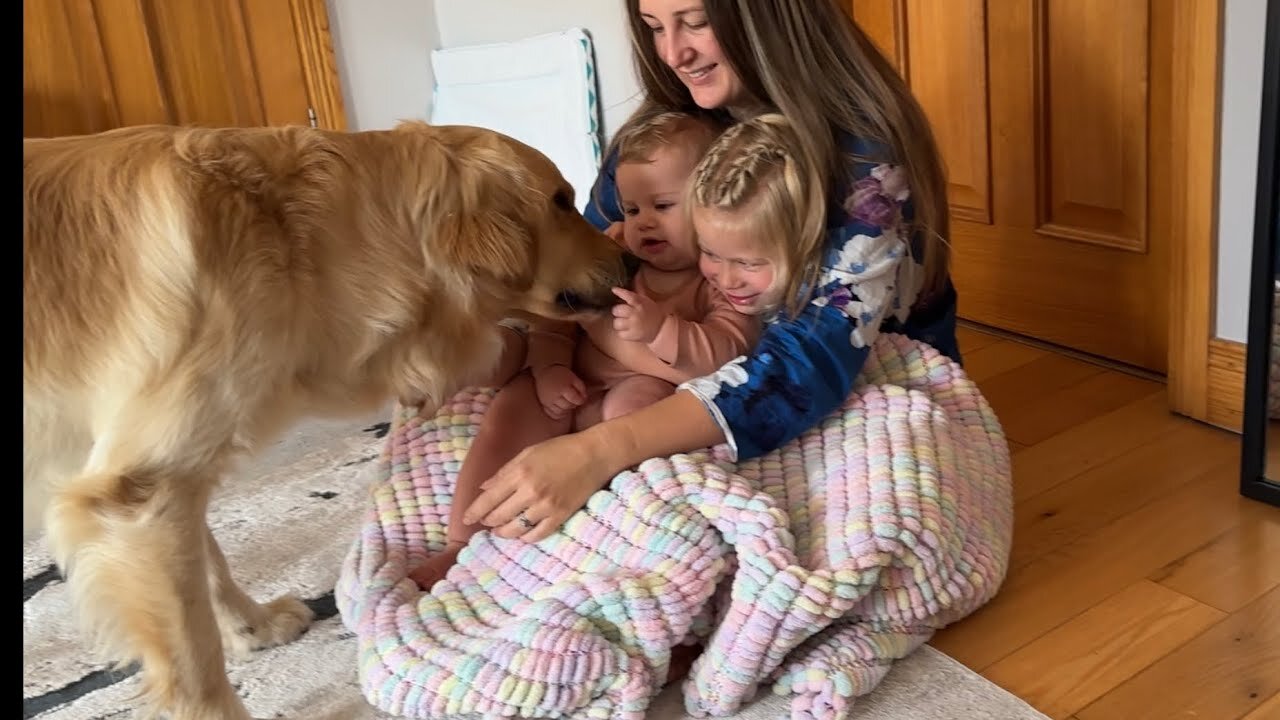
[(346, 127), (324, 0), (23, 0), (26, 137)]

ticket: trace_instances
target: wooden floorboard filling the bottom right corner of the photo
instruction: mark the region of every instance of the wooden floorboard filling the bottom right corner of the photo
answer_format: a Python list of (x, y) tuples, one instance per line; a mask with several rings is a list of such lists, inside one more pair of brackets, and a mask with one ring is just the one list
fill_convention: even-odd
[(1234, 720), (1280, 692), (1280, 588), (1076, 712), (1080, 720)]

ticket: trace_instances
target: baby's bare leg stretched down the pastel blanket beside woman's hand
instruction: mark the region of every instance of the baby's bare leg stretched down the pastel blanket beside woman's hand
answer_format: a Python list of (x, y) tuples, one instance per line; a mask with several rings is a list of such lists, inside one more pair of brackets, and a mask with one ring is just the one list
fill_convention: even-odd
[(484, 529), (480, 523), (467, 525), (462, 521), (463, 512), (480, 496), (480, 484), (521, 450), (568, 432), (568, 418), (553, 420), (543, 413), (529, 372), (520, 373), (498, 391), (458, 471), (445, 533), (448, 544), (408, 575), (420, 588), (430, 589), (444, 578), (471, 536)]

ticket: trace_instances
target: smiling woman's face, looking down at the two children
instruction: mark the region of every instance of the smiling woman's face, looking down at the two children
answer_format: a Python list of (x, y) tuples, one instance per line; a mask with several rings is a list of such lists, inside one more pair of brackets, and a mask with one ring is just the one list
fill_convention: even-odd
[(676, 70), (699, 108), (742, 105), (742, 81), (721, 53), (701, 0), (640, 0), (658, 58)]

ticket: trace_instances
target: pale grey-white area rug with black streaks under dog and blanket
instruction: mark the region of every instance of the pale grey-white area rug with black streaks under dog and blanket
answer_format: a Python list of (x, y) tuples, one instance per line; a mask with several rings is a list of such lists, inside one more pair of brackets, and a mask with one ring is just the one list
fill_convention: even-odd
[[(246, 591), (265, 600), (294, 593), (319, 620), (297, 642), (230, 665), (256, 717), (387, 720), (356, 684), (356, 643), (333, 607), (333, 583), (360, 524), (365, 473), (381, 448), (387, 415), (307, 423), (228, 483), (215, 501), (214, 533)], [(23, 546), (23, 719), (129, 717), (137, 678), (90, 656), (44, 541)], [(685, 719), (678, 685), (653, 705), (655, 720)], [(787, 702), (762, 693), (736, 717), (774, 720)], [(1042, 720), (1046, 716), (925, 646), (899, 662), (854, 708), (856, 720)]]

